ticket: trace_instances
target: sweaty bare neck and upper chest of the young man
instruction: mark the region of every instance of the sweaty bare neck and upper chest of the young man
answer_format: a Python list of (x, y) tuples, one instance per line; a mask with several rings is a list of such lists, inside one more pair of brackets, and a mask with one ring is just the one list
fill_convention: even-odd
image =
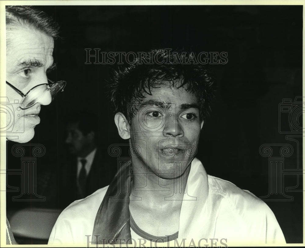
[(164, 179), (151, 173), (133, 173), (129, 210), (143, 231), (156, 236), (179, 229), (181, 204), (190, 165), (178, 178)]

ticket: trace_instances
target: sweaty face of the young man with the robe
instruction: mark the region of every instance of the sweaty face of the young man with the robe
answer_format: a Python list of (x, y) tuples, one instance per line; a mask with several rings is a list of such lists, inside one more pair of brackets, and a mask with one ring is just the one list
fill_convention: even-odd
[[(146, 96), (131, 120), (131, 146), (141, 147), (134, 169), (148, 169), (161, 178), (176, 178), (194, 157), (203, 122), (196, 97), (165, 84)], [(147, 164), (147, 168), (146, 168)]]

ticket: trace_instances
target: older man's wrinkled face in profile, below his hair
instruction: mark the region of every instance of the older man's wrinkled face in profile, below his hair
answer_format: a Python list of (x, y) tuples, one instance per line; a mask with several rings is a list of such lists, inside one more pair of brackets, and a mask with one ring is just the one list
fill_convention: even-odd
[[(47, 84), (46, 71), (53, 64), (53, 38), (30, 27), (12, 27), (7, 30), (6, 81), (26, 94), (38, 84)], [(51, 102), (51, 94), (45, 92), (39, 101), (28, 109), (21, 109), (21, 96), (6, 84), (7, 105), (12, 111), (6, 115), (6, 125), (10, 128), (7, 139), (24, 143), (34, 137), (34, 127), (40, 123), (38, 114), (41, 104)]]

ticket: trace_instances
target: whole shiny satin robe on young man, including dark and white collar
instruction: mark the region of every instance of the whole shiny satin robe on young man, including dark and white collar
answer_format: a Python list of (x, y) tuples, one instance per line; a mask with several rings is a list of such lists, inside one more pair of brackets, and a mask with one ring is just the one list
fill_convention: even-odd
[[(130, 243), (130, 184), (131, 163), (127, 163), (109, 187), (75, 201), (60, 214), (49, 244), (95, 245), (96, 238), (99, 244)], [(263, 201), (231, 182), (207, 175), (195, 158), (181, 205), (177, 245), (181, 242), (186, 246), (263, 245), (282, 244), (285, 238)]]

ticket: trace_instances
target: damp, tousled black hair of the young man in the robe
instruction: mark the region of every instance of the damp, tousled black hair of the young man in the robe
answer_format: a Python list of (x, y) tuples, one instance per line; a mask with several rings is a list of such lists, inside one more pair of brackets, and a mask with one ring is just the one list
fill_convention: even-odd
[(134, 112), (128, 113), (127, 106), (132, 99), (144, 99), (145, 95), (152, 95), (152, 88), (161, 88), (162, 85), (170, 83), (173, 87), (184, 88), (196, 96), (200, 119), (205, 120), (210, 114), (210, 102), (215, 92), (211, 71), (198, 63), (176, 63), (177, 55), (179, 61), (190, 61), (194, 53), (180, 50), (168, 53), (168, 49), (152, 50), (145, 53), (147, 61), (151, 61), (155, 54), (158, 54), (158, 61), (167, 63), (141, 63), (141, 60), (136, 58), (135, 62), (127, 67), (113, 71), (107, 82), (113, 112), (121, 112), (125, 117), (128, 114), (128, 121), (131, 123)]

